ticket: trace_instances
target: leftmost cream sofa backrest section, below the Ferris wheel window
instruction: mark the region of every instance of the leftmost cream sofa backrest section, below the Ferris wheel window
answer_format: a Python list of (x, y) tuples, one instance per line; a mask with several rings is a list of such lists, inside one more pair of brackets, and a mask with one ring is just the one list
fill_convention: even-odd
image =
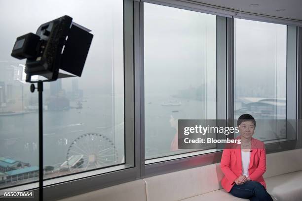
[(139, 179), (60, 201), (146, 201), (145, 181)]

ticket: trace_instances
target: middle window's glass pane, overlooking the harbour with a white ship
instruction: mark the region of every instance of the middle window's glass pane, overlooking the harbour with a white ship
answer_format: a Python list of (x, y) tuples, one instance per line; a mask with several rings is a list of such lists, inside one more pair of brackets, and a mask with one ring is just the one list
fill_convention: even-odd
[(145, 156), (178, 149), (177, 119), (216, 119), (216, 16), (144, 3)]

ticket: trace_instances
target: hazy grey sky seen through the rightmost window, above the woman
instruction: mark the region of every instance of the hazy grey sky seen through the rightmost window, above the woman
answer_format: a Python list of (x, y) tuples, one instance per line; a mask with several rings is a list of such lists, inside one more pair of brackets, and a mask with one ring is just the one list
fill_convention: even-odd
[(286, 95), (285, 25), (235, 20), (235, 92), (237, 97)]

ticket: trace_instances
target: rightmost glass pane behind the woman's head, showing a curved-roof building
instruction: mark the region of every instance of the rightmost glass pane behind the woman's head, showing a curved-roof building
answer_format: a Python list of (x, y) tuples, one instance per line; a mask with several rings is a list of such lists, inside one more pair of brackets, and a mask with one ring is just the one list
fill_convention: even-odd
[[(235, 19), (235, 119), (286, 119), (286, 40), (286, 25)], [(259, 140), (285, 138), (259, 126)]]

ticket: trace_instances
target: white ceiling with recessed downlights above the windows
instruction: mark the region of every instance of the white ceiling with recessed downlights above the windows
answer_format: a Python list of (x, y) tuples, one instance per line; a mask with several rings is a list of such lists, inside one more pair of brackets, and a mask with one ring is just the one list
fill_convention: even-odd
[[(192, 0), (225, 8), (293, 20), (302, 20), (302, 0)], [(258, 4), (258, 5), (252, 5)], [(285, 10), (283, 10), (285, 9)], [(277, 11), (281, 10), (281, 11)]]

